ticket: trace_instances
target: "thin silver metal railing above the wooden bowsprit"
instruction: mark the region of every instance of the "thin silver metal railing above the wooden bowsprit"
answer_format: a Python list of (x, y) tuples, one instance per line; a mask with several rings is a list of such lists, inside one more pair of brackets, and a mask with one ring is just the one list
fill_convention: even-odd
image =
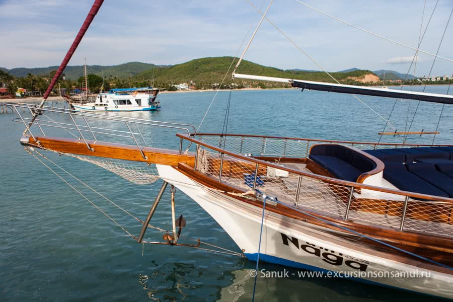
[[(169, 128), (169, 129), (175, 129), (176, 131), (182, 130), (185, 132), (187, 135), (191, 135), (190, 130), (193, 130), (195, 132), (195, 127), (193, 125), (189, 124), (182, 124), (182, 123), (171, 123), (171, 122), (161, 122), (161, 121), (154, 121), (154, 120), (146, 120), (146, 119), (141, 119), (141, 118), (135, 118), (135, 117), (126, 117), (126, 116), (112, 116), (112, 115), (106, 115), (105, 113), (92, 113), (92, 112), (84, 112), (84, 111), (73, 111), (70, 109), (64, 109), (64, 108), (56, 108), (56, 107), (51, 107), (51, 106), (44, 106), (43, 108), (38, 108), (37, 105), (33, 104), (26, 104), (26, 103), (3, 103), (7, 106), (12, 107), (16, 113), (19, 115), (18, 118), (13, 118), (13, 121), (16, 122), (21, 122), (25, 125), (25, 134), (29, 133), (35, 141), (39, 143), (39, 140), (36, 139), (36, 135), (33, 134), (31, 131), (31, 125), (36, 125), (42, 136), (46, 137), (46, 134), (43, 130), (43, 127), (50, 127), (50, 128), (55, 128), (55, 129), (62, 129), (70, 133), (72, 136), (77, 137), (74, 133), (77, 133), (79, 136), (79, 139), (82, 140), (86, 145), (87, 148), (90, 150), (93, 150), (93, 147), (90, 146), (89, 142), (87, 141), (87, 138), (85, 137), (84, 133), (89, 133), (93, 136), (94, 142), (98, 140), (97, 135), (107, 135), (111, 137), (123, 137), (123, 138), (130, 138), (132, 139), (133, 143), (137, 146), (138, 150), (140, 151), (141, 156), (143, 159), (146, 159), (144, 153), (143, 153), (143, 148), (147, 147), (146, 139), (144, 138), (142, 132), (140, 131), (140, 128), (138, 127), (139, 125), (141, 126), (149, 126), (149, 127), (162, 127), (162, 128)], [(27, 118), (23, 117), (21, 114), (21, 109), (22, 113), (24, 113), (25, 110), (29, 111), (31, 115), (33, 115), (34, 112), (38, 113), (38, 117), (35, 118), (34, 120), (32, 118)], [(49, 116), (46, 115), (46, 113), (54, 113), (58, 114), (59, 116), (68, 117), (68, 120), (64, 121), (56, 121), (50, 118)], [(42, 117), (41, 117), (42, 116)], [(76, 119), (81, 119), (80, 122)], [(110, 121), (115, 123), (115, 125), (112, 125), (111, 128), (105, 128), (105, 127), (99, 127), (96, 125), (93, 125), (89, 123), (90, 120), (95, 120), (95, 121)], [(120, 127), (120, 124), (122, 124), (124, 129), (115, 129)], [(132, 127), (131, 127), (132, 126)], [(136, 130), (132, 130), (132, 129)], [(73, 132), (71, 132), (73, 131)], [(141, 139), (144, 143), (144, 147), (140, 146), (138, 143), (137, 137)], [(182, 139), (180, 140), (180, 154), (182, 153)]]

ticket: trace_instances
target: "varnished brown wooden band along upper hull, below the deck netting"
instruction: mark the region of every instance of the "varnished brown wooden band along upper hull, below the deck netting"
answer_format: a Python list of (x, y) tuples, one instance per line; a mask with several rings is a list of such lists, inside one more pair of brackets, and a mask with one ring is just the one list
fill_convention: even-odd
[[(213, 180), (212, 178), (196, 172), (193, 170), (192, 167), (189, 167), (185, 164), (180, 164), (178, 167), (174, 167), (177, 169), (179, 172), (182, 174), (186, 175), (190, 179), (196, 181), (197, 183), (206, 186), (208, 188), (212, 188), (218, 191), (223, 191), (224, 194), (235, 198), (239, 201), (242, 201), (244, 203), (254, 205), (258, 208), (263, 207), (263, 203), (258, 200), (253, 200), (253, 199), (247, 199), (243, 197), (239, 197), (237, 195), (232, 195), (229, 194), (231, 193), (244, 193), (245, 191), (242, 189), (234, 188), (229, 185), (225, 184), (220, 184), (216, 180)], [(319, 219), (313, 218), (309, 215), (306, 215), (304, 213), (301, 213), (299, 211), (294, 210), (291, 207), (284, 206), (282, 204), (277, 204), (277, 205), (271, 205), (271, 204), (266, 204), (266, 209), (269, 210), (270, 212), (280, 214), (289, 218), (294, 218), (300, 221), (308, 222), (314, 225), (318, 226), (323, 226), (324, 228), (337, 231), (337, 232), (346, 232), (345, 230), (338, 228), (337, 226), (333, 226), (327, 222), (321, 221)], [(453, 258), (451, 257), (451, 254), (453, 254), (453, 242), (444, 237), (436, 236), (436, 235), (423, 235), (423, 234), (418, 234), (418, 233), (412, 233), (412, 232), (399, 232), (396, 230), (392, 229), (387, 229), (387, 228), (379, 228), (376, 226), (370, 226), (370, 225), (363, 225), (360, 223), (356, 223), (354, 221), (344, 221), (340, 220), (334, 217), (329, 217), (325, 215), (320, 215), (319, 213), (314, 213), (310, 210), (304, 209), (305, 212), (310, 213), (313, 216), (322, 218), (326, 221), (333, 222), (339, 226), (346, 227), (348, 229), (351, 229), (352, 231), (358, 232), (360, 234), (372, 237), (374, 239), (378, 239), (381, 241), (384, 241), (386, 243), (396, 245), (402, 249), (405, 249), (409, 252), (414, 252), (417, 253), (423, 257), (429, 257), (430, 259), (444, 263), (447, 265), (453, 265)], [(346, 236), (346, 235), (345, 235)], [(349, 235), (353, 236), (353, 235)], [(347, 237), (347, 236), (346, 236)], [(392, 253), (394, 255), (399, 255), (399, 256), (404, 256), (405, 259), (409, 258), (405, 253), (398, 252), (395, 249), (388, 248), (382, 244), (370, 241), (368, 239), (364, 238), (357, 238), (355, 239), (356, 241), (360, 241), (366, 244), (370, 244), (372, 246), (375, 246), (376, 248), (380, 250), (385, 250), (389, 253)], [(415, 258), (412, 258), (415, 259)], [(420, 259), (416, 258), (418, 262)], [(401, 261), (401, 260), (400, 260)], [(427, 263), (427, 262), (422, 262), (422, 263)], [(438, 266), (433, 266), (431, 264), (426, 264), (430, 265), (432, 267), (435, 267), (436, 270), (442, 271), (444, 273), (452, 274), (451, 270), (444, 269)], [(432, 267), (430, 269), (432, 269)]]

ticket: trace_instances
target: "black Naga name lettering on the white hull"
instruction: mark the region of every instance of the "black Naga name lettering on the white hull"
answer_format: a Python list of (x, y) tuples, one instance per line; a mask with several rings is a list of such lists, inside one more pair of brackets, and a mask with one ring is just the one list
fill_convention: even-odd
[[(283, 241), (283, 245), (289, 246), (289, 243), (292, 243), (298, 250), (303, 250), (304, 252), (318, 256), (322, 258), (324, 262), (327, 262), (332, 265), (342, 265), (343, 263), (350, 268), (357, 269), (360, 271), (366, 271), (368, 267), (368, 262), (350, 257), (348, 255), (344, 255), (342, 253), (337, 253), (333, 250), (326, 249), (323, 247), (318, 247), (314, 244), (305, 242), (305, 244), (299, 244), (299, 240), (294, 237), (289, 237), (283, 233), (281, 234), (281, 239)], [(345, 258), (347, 260), (345, 260)]]

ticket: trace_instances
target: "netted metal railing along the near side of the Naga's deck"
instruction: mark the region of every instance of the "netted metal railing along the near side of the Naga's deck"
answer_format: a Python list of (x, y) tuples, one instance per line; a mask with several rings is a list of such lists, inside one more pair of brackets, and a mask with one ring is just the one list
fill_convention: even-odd
[[(453, 238), (451, 198), (343, 181), (243, 156), (216, 147), (218, 134), (212, 139), (214, 145), (178, 136), (196, 144), (195, 171), (232, 190), (257, 190), (289, 207), (340, 220)], [(263, 138), (259, 139), (262, 144)], [(247, 140), (247, 136), (239, 136), (238, 141), (242, 140)], [(241, 145), (236, 147), (240, 149)]]

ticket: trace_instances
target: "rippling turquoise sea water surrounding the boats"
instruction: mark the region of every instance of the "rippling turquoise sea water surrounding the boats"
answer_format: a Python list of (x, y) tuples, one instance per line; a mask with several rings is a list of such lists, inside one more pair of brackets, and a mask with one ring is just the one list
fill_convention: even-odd
[[(446, 86), (430, 86), (427, 91), (445, 93), (446, 89)], [(197, 125), (213, 95), (162, 94), (161, 111), (121, 114)], [(228, 97), (228, 92), (218, 94), (202, 131), (221, 131)], [(386, 118), (394, 104), (392, 99), (362, 99)], [(398, 101), (391, 117), (395, 128), (404, 130), (417, 103)], [(441, 104), (420, 103), (411, 130), (434, 130), (441, 109)], [(19, 144), (24, 126), (12, 122), (13, 117), (12, 113), (0, 114), (0, 300), (251, 299), (253, 278), (248, 272), (255, 267), (254, 262), (237, 256), (159, 245), (145, 245), (142, 255), (142, 245), (24, 152)], [(383, 120), (349, 95), (296, 90), (234, 91), (228, 132), (376, 140), (384, 125)], [(445, 106), (438, 131), (441, 134), (436, 142), (452, 143), (453, 106)], [(174, 131), (154, 129), (144, 136), (152, 145), (174, 148), (179, 145)], [(393, 136), (384, 139), (401, 140)], [(432, 135), (410, 137), (409, 142), (415, 141), (431, 143)], [(141, 219), (145, 218), (161, 185), (160, 181), (153, 185), (134, 185), (77, 159), (55, 155), (49, 158)], [(77, 181), (72, 180), (71, 184), (132, 234), (139, 233), (140, 224), (130, 216)], [(179, 191), (176, 211), (187, 221), (183, 235), (239, 252), (219, 225)], [(171, 229), (169, 190), (151, 223)], [(145, 239), (159, 241), (161, 237), (162, 233), (148, 229)], [(283, 270), (277, 265), (260, 263), (260, 269), (263, 268)], [(296, 276), (297, 273), (289, 278), (258, 278), (256, 300), (427, 300), (422, 295), (349, 280)]]

